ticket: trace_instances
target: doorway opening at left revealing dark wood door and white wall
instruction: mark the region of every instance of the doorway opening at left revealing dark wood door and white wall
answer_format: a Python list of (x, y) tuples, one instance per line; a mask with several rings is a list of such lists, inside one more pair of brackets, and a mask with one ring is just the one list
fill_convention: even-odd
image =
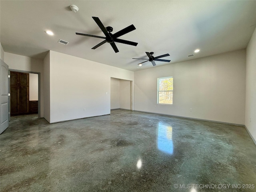
[(10, 116), (37, 114), (40, 117), (40, 73), (9, 70)]

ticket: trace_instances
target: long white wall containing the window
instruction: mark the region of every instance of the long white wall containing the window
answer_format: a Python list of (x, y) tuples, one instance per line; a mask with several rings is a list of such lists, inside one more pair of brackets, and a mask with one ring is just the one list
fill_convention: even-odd
[[(244, 124), (245, 58), (238, 50), (136, 71), (134, 110)], [(168, 76), (173, 105), (157, 104), (157, 78)]]

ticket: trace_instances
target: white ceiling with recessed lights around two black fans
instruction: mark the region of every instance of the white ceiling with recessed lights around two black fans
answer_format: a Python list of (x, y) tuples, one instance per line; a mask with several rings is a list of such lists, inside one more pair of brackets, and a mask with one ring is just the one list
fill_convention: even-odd
[[(70, 5), (78, 6), (72, 12)], [(79, 36), (76, 32), (104, 36), (92, 16), (113, 34), (131, 24), (136, 30), (120, 39), (137, 46), (116, 43), (115, 53), (106, 43), (92, 50), (102, 39)], [(0, 41), (5, 52), (44, 58), (48, 50), (85, 58), (126, 70), (142, 70), (246, 48), (256, 26), (256, 1), (0, 1)], [(45, 30), (52, 30), (49, 36)], [(63, 45), (58, 40), (68, 41)], [(196, 48), (200, 52), (194, 53)], [(153, 56), (145, 62), (145, 52)], [(187, 55), (194, 54), (193, 57)]]

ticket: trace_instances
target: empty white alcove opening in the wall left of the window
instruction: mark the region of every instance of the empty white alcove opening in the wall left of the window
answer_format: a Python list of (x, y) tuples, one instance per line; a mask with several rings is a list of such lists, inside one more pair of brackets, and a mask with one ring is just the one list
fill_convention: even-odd
[(110, 110), (132, 110), (132, 81), (110, 78)]

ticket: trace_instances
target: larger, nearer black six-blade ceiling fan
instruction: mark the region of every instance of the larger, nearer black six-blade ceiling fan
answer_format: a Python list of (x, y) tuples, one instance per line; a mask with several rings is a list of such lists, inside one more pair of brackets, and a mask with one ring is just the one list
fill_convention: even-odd
[(118, 37), (131, 32), (133, 30), (135, 30), (136, 28), (134, 27), (134, 25), (130, 25), (114, 34), (112, 34), (111, 32), (113, 31), (113, 28), (108, 26), (108, 27), (104, 27), (104, 25), (102, 24), (102, 22), (100, 21), (100, 19), (98, 17), (92, 17), (94, 19), (94, 21), (96, 22), (96, 24), (98, 24), (98, 26), (100, 27), (100, 29), (102, 30), (102, 32), (105, 34), (106, 37), (101, 37), (101, 36), (96, 36), (96, 35), (89, 35), (89, 34), (83, 34), (83, 33), (76, 33), (77, 35), (83, 35), (83, 36), (89, 36), (89, 37), (96, 37), (96, 38), (102, 38), (105, 39), (104, 41), (100, 42), (98, 45), (94, 46), (92, 49), (96, 49), (99, 46), (103, 45), (104, 43), (108, 42), (110, 43), (110, 45), (112, 46), (112, 48), (114, 49), (114, 51), (117, 53), (119, 52), (118, 48), (116, 47), (115, 42), (118, 43), (123, 43), (123, 44), (128, 44), (128, 45), (133, 45), (133, 46), (137, 46), (138, 43), (136, 42), (132, 42), (132, 41), (127, 41), (127, 40), (122, 40), (122, 39), (118, 39)]

